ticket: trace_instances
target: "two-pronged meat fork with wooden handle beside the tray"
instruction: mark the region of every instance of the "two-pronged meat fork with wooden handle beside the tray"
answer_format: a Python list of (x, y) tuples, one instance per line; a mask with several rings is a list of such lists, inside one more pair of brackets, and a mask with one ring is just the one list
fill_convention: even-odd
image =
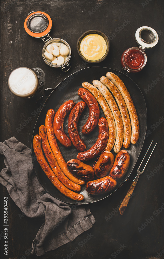
[[(153, 142), (153, 140), (152, 140), (152, 142)], [(157, 144), (157, 142), (156, 142), (156, 144)], [(156, 146), (156, 144), (155, 144), (155, 146)], [(149, 148), (151, 147), (151, 145), (152, 145), (152, 143), (150, 144)], [(155, 148), (155, 146), (154, 146), (154, 148)], [(149, 151), (149, 148), (148, 148), (147, 152)], [(152, 150), (152, 153), (153, 153), (153, 151), (154, 151), (154, 148), (153, 148), (153, 150)], [(146, 154), (147, 154), (147, 152), (146, 152)], [(147, 163), (148, 163), (148, 161), (149, 161), (149, 159), (150, 159), (152, 153), (150, 154), (150, 156), (149, 156), (149, 158), (148, 158), (148, 160), (147, 160), (147, 162), (146, 162), (146, 165), (147, 165)], [(145, 154), (145, 156), (146, 156), (146, 154)], [(143, 160), (144, 160), (145, 156), (143, 157)], [(142, 160), (142, 162), (143, 162), (143, 160)], [(127, 207), (127, 205), (128, 205), (129, 199), (130, 199), (130, 197), (131, 197), (131, 195), (132, 195), (132, 193), (133, 193), (133, 191), (134, 191), (134, 188), (135, 188), (135, 185), (136, 185), (136, 183), (137, 183), (137, 181), (138, 181), (139, 176), (140, 176), (140, 175), (143, 173), (143, 171), (145, 170), (146, 165), (145, 165), (145, 167), (143, 168), (143, 170), (140, 171), (140, 167), (141, 167), (141, 165), (142, 165), (142, 162), (140, 163), (140, 166), (139, 166), (139, 168), (138, 168), (138, 170), (137, 170), (137, 176), (134, 178), (131, 187), (129, 188), (128, 192), (126, 193), (126, 196), (125, 196), (124, 200), (122, 201), (122, 203), (121, 203), (121, 205), (120, 205), (119, 212), (120, 212), (121, 215), (124, 214), (124, 211), (125, 211), (125, 209), (126, 209), (126, 207)]]

